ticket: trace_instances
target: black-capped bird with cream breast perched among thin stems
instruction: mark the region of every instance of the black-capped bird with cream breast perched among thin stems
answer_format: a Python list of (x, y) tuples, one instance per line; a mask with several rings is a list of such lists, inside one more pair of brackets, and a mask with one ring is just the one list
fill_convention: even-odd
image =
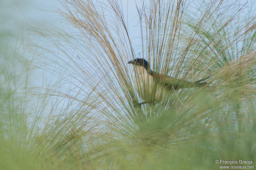
[(202, 78), (198, 81), (186, 81), (184, 79), (173, 78), (168, 75), (154, 72), (150, 69), (150, 65), (147, 60), (143, 58), (136, 58), (128, 62), (134, 66), (134, 90), (138, 93), (139, 97), (144, 102), (139, 103), (158, 103), (164, 99), (168, 99), (171, 96), (171, 92), (192, 87), (202, 87), (207, 82), (202, 82), (206, 78)]

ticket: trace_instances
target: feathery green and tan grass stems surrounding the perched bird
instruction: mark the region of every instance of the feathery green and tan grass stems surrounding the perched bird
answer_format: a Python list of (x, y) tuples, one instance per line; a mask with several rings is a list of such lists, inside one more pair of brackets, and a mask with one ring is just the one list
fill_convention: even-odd
[[(36, 30), (51, 45), (24, 45), (33, 59), (1, 54), (1, 169), (219, 169), (216, 159), (256, 161), (255, 16), (239, 18), (244, 5), (227, 1), (196, 11), (188, 1), (167, 4), (138, 9), (140, 55), (176, 78), (211, 75), (210, 87), (137, 108), (126, 64), (137, 55), (120, 4), (63, 1), (54, 10), (77, 32)], [(32, 88), (35, 69), (58, 80), (45, 76)]]

